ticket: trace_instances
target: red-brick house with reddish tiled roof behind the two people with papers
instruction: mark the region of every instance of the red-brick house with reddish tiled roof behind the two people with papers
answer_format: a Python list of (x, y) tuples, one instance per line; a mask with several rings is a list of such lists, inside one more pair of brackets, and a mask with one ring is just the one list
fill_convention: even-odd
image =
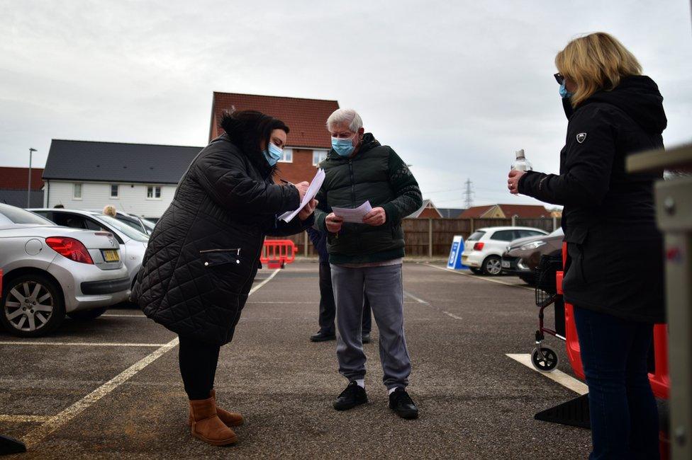
[(230, 110), (259, 110), (282, 120), (291, 132), (286, 137), (284, 157), (279, 160), (277, 178), (298, 183), (315, 176), (316, 167), (331, 149), (327, 118), (339, 108), (336, 100), (259, 96), (214, 92), (211, 104), (209, 140), (223, 134), (221, 116)]

